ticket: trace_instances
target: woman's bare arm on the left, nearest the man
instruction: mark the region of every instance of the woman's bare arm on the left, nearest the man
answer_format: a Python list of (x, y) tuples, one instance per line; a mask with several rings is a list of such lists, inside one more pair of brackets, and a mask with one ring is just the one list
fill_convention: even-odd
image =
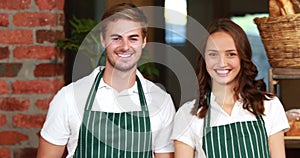
[(194, 149), (180, 141), (174, 141), (175, 144), (175, 158), (194, 158)]

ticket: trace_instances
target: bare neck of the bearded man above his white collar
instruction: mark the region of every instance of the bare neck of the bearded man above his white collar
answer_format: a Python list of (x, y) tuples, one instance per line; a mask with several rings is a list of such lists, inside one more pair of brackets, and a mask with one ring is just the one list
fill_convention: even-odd
[(103, 80), (106, 84), (118, 92), (121, 92), (134, 85), (136, 80), (136, 69), (123, 72), (114, 68), (105, 68)]

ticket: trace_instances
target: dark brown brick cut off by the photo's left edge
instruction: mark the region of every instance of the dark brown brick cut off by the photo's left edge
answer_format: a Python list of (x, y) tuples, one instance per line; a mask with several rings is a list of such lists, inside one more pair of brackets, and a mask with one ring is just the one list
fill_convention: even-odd
[(0, 77), (16, 77), (22, 68), (22, 63), (0, 63)]

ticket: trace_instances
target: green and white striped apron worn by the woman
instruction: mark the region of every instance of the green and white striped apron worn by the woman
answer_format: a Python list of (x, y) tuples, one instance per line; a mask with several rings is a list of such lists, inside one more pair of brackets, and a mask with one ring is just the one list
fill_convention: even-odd
[[(208, 103), (210, 107), (210, 101)], [(209, 109), (204, 118), (203, 134), (202, 147), (207, 158), (270, 158), (268, 136), (261, 116), (256, 121), (210, 127)]]

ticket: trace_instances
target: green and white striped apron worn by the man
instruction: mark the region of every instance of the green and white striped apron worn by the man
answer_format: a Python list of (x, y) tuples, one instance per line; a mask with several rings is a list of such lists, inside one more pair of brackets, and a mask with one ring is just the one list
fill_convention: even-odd
[(152, 158), (149, 112), (137, 76), (142, 111), (112, 113), (91, 110), (103, 72), (97, 74), (90, 90), (74, 157)]

